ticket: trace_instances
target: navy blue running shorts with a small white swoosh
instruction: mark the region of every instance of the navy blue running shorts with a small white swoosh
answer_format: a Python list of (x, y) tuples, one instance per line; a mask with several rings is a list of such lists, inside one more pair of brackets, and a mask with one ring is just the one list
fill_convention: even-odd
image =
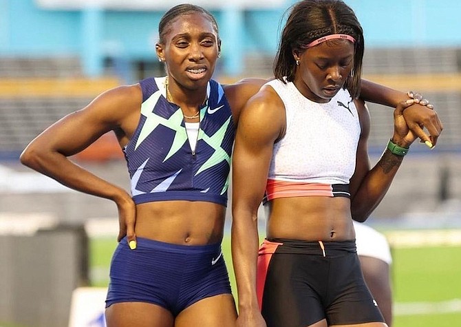
[(200, 299), (230, 294), (221, 245), (177, 245), (137, 238), (135, 250), (123, 238), (112, 257), (106, 307), (147, 302), (174, 316)]

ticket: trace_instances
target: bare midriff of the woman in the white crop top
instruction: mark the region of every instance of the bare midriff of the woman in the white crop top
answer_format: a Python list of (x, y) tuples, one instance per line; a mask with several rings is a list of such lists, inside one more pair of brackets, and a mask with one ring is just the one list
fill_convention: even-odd
[(267, 238), (324, 242), (355, 238), (348, 198), (279, 198), (268, 205)]

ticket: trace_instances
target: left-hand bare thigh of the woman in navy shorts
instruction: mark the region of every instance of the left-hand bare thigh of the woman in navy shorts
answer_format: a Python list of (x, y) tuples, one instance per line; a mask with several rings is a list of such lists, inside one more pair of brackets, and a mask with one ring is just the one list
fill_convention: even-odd
[(173, 327), (169, 310), (145, 302), (120, 302), (106, 308), (107, 327)]

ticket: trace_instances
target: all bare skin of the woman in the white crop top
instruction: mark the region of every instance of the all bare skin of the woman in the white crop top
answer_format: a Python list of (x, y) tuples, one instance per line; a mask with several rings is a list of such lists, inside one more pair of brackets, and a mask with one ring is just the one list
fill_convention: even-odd
[[(330, 101), (352, 70), (353, 54), (352, 43), (345, 40), (327, 41), (304, 52), (294, 52), (294, 59), (300, 61), (294, 85), (311, 101)], [(356, 220), (365, 220), (382, 200), (403, 157), (385, 151), (378, 164), (369, 167), (369, 112), (363, 101), (355, 103), (361, 136), (355, 173), (350, 179), (351, 199), (314, 196), (272, 200), (266, 223), (268, 238), (325, 242), (354, 240), (352, 216)], [(394, 111), (392, 140), (401, 147), (409, 147), (416, 139), (403, 118), (403, 109), (412, 103), (402, 102)], [(233, 157), (232, 249), (239, 293), (237, 326), (266, 326), (259, 313), (255, 293), (259, 247), (257, 209), (266, 189), (272, 149), (285, 131), (285, 107), (281, 98), (272, 87), (262, 87), (242, 112)], [(323, 319), (312, 326), (325, 327), (327, 323)], [(353, 326), (386, 325), (369, 323)]]

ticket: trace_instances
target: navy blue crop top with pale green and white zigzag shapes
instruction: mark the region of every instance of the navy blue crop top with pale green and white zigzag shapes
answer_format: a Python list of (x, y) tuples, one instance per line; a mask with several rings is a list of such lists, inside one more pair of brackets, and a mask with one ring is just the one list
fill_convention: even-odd
[(226, 206), (235, 127), (224, 89), (216, 81), (208, 83), (192, 151), (180, 107), (165, 99), (164, 79), (140, 81), (140, 121), (123, 150), (131, 196), (136, 204), (189, 200)]

